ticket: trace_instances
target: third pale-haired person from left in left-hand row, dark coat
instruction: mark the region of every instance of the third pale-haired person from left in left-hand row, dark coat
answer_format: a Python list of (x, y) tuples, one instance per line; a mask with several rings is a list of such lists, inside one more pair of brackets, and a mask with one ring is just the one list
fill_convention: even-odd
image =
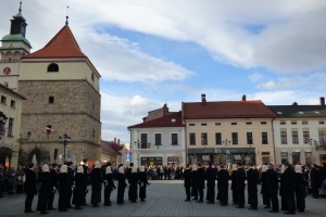
[(75, 209), (83, 209), (82, 208), (82, 200), (84, 192), (86, 191), (85, 184), (85, 176), (84, 176), (84, 168), (83, 166), (78, 166), (77, 174), (75, 176), (75, 189), (74, 189), (74, 197), (73, 203), (75, 204)]

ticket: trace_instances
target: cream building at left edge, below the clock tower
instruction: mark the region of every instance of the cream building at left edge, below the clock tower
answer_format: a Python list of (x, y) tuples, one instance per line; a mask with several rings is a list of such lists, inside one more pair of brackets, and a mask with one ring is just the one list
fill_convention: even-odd
[(7, 86), (0, 85), (0, 112), (5, 115), (7, 123), (0, 123), (0, 164), (18, 165), (20, 140), (28, 139), (28, 133), (20, 136), (22, 102), (25, 97)]

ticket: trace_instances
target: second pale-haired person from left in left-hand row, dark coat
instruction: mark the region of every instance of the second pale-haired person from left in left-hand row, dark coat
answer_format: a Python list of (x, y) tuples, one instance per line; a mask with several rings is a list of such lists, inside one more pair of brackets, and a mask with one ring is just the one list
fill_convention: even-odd
[(67, 178), (67, 166), (62, 165), (59, 174), (59, 203), (58, 209), (60, 212), (67, 212), (67, 192), (68, 192), (68, 178)]

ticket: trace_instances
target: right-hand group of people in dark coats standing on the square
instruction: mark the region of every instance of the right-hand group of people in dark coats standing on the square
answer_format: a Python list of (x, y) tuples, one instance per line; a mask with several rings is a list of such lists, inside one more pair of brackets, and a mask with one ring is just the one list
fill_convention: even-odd
[[(273, 164), (255, 167), (252, 164), (238, 163), (233, 168), (223, 164), (214, 167), (212, 163), (203, 167), (201, 163), (186, 166), (183, 173), (186, 190), (186, 202), (192, 200), (203, 203), (204, 189), (206, 189), (206, 203), (214, 204), (215, 181), (217, 180), (216, 200), (221, 206), (228, 205), (229, 180), (233, 203), (237, 208), (244, 208), (244, 190), (248, 191), (248, 209), (258, 209), (258, 184), (261, 183), (261, 194), (264, 208), (268, 213), (279, 213), (278, 195), (280, 195), (280, 210), (294, 215), (304, 212), (306, 194), (314, 199), (326, 197), (326, 164), (317, 166), (302, 166), (289, 164), (274, 166)], [(322, 190), (319, 192), (319, 189)]]

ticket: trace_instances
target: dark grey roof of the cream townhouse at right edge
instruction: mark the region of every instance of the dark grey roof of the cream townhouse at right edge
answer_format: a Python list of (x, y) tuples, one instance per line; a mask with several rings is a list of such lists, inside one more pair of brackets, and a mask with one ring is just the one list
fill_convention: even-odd
[(267, 105), (277, 117), (326, 117), (323, 105)]

